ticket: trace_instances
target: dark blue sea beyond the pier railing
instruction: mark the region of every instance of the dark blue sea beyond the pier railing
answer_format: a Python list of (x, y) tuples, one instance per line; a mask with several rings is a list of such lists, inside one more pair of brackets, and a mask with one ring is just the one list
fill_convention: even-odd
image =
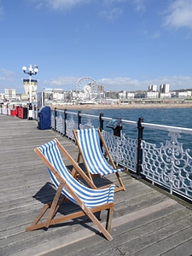
[[(71, 111), (71, 110), (68, 110)], [(78, 111), (78, 109), (77, 109)], [(73, 112), (76, 112), (73, 110)], [(122, 108), (122, 109), (82, 109), (81, 113), (99, 116), (103, 113), (104, 117), (119, 118), (136, 121), (143, 118), (143, 122), (156, 125), (170, 125), (192, 129), (192, 108)], [(82, 117), (82, 123), (84, 122)], [(98, 126), (97, 124), (93, 125)], [(96, 122), (96, 121), (95, 121)], [(104, 122), (104, 129), (108, 130), (108, 122)], [(110, 130), (110, 129), (109, 129)], [(137, 138), (137, 126), (122, 125), (122, 133), (125, 137)], [(143, 139), (148, 143), (154, 143), (157, 146), (160, 143), (170, 141), (169, 132), (160, 130), (143, 129)], [(192, 152), (192, 135), (181, 134), (178, 143), (182, 143), (183, 149), (189, 148)]]

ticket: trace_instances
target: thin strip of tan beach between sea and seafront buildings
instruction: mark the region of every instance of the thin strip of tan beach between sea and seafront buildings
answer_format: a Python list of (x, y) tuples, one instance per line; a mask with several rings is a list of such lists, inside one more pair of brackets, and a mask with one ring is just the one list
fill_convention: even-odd
[(139, 109), (139, 108), (192, 108), (189, 103), (131, 103), (131, 104), (84, 104), (84, 105), (55, 105), (50, 106), (54, 109)]

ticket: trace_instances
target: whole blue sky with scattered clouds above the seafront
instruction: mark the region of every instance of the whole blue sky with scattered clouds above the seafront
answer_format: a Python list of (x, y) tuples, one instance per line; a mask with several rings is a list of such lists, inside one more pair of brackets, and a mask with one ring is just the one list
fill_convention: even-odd
[(0, 93), (24, 92), (22, 67), (38, 65), (38, 91), (192, 88), (191, 0), (0, 0)]

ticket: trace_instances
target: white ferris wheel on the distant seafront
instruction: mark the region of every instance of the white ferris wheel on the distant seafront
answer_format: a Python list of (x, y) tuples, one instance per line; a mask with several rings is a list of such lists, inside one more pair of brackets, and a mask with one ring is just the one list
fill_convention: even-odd
[(98, 94), (98, 85), (94, 79), (84, 77), (78, 80), (75, 90), (82, 100), (94, 100)]

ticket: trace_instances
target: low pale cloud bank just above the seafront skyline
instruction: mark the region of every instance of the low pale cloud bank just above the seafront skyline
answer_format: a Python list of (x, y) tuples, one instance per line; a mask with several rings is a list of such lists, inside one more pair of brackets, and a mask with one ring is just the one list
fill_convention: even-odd
[[(40, 80), (38, 83), (38, 91), (43, 88), (63, 89), (63, 90), (75, 90), (77, 82), (80, 77), (73, 76), (61, 76), (52, 79)], [(95, 79), (95, 78), (93, 78)], [(116, 78), (102, 78), (95, 79), (98, 85), (103, 85), (104, 90), (148, 90), (148, 85), (156, 84), (159, 90), (160, 84), (170, 84), (170, 90), (189, 89), (192, 84), (192, 77), (189, 76), (162, 76), (157, 78), (143, 77), (140, 79), (131, 79), (128, 77), (116, 77)], [(18, 85), (16, 85), (18, 84)], [(20, 85), (19, 85), (20, 84)], [(21, 93), (24, 88), (20, 78), (15, 73), (2, 69), (0, 73), (0, 92), (3, 92), (3, 88), (15, 88), (17, 93)]]

